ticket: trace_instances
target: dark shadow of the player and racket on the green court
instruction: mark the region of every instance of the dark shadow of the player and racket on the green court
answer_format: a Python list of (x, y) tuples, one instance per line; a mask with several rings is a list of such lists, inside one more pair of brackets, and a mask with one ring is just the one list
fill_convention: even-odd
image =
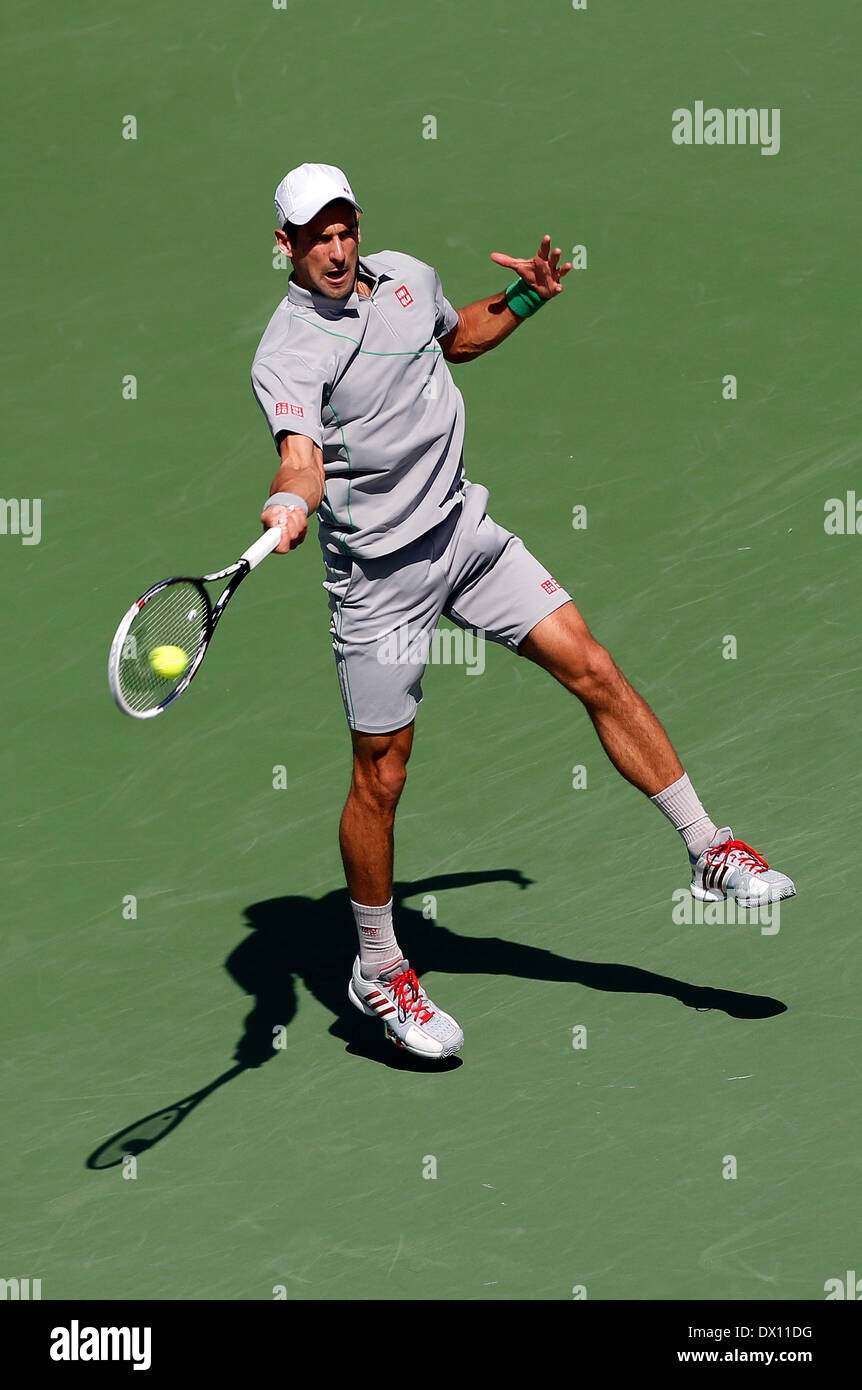
[[(501, 937), (463, 937), (425, 917), (407, 898), (505, 881), (527, 888), (530, 880), (516, 869), (484, 873), (438, 874), (395, 885), (398, 935), (417, 976), (428, 970), (444, 974), (503, 974), (527, 980), (556, 980), (589, 990), (619, 994), (663, 994), (692, 1009), (720, 1009), (734, 1019), (767, 1019), (784, 1013), (787, 1005), (767, 995), (715, 990), (690, 984), (652, 970), (617, 963), (573, 960), (553, 951), (505, 941)], [(288, 1042), (288, 1027), (296, 1015), (296, 981), (332, 1013), (330, 1033), (346, 1044), (346, 1051), (396, 1070), (435, 1072), (460, 1066), (460, 1058), (425, 1062), (382, 1038), (377, 1019), (366, 1019), (348, 1001), (348, 977), (353, 960), (353, 917), (346, 888), (324, 898), (268, 898), (245, 909), (252, 929), (225, 960), (225, 969), (245, 994), (254, 999), (236, 1051), (234, 1066), (209, 1086), (174, 1105), (154, 1111), (127, 1125), (89, 1155), (88, 1168), (114, 1168), (128, 1156), (152, 1148), (218, 1087), (278, 1056)]]

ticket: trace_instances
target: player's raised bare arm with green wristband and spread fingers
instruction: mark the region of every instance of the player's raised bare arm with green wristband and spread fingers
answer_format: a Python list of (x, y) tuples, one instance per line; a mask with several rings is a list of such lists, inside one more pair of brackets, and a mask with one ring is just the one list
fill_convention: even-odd
[(560, 265), (560, 254), (559, 246), (551, 250), (549, 236), (542, 238), (532, 260), (492, 252), (491, 260), (517, 271), (519, 279), (501, 295), (478, 299), (457, 310), (457, 324), (438, 339), (446, 361), (473, 361), (474, 357), (481, 357), (514, 332), (524, 318), (530, 318), (544, 303), (562, 293), (562, 279), (571, 270), (571, 261)]

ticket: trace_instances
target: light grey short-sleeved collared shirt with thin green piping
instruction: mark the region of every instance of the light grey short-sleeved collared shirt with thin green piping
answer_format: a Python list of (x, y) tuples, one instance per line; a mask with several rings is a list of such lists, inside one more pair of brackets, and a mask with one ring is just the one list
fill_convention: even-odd
[(432, 265), (360, 256), (366, 297), (291, 277), (252, 366), (275, 448), (286, 430), (324, 457), (320, 543), (373, 557), (425, 535), (457, 502), (464, 402), (437, 339), (457, 322)]

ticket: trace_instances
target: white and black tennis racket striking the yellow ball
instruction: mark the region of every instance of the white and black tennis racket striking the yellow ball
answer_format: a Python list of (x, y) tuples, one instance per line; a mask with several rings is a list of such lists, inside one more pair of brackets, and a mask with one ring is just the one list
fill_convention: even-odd
[[(199, 580), (161, 580), (132, 603), (114, 634), (108, 656), (111, 695), (124, 714), (153, 719), (179, 699), (200, 670), (228, 599), (279, 541), (281, 527), (270, 527), (227, 570), (203, 574)], [(213, 602), (204, 585), (220, 580), (228, 584)], [(153, 653), (165, 646), (179, 648), (188, 659), (175, 676), (160, 676), (153, 669)]]

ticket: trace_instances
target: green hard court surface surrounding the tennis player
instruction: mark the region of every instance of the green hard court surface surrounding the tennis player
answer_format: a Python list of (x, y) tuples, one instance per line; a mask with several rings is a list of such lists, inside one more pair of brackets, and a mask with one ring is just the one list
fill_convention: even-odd
[[(861, 1258), (862, 539), (824, 531), (829, 499), (862, 499), (858, 17), (11, 19), (1, 491), (40, 500), (42, 534), (0, 535), (0, 1275), (85, 1300), (823, 1298)], [(698, 100), (780, 108), (779, 153), (676, 146)], [(306, 158), (348, 171), (366, 250), (431, 261), (455, 304), (505, 286), (492, 250), (587, 247), (558, 303), (455, 368), (469, 477), (717, 823), (799, 884), (770, 934), (676, 922), (680, 841), (581, 708), (496, 648), (481, 674), (432, 666), (398, 923), (464, 1027), (448, 1070), (346, 999), (316, 538), (249, 578), (163, 719), (107, 691), (136, 594), (257, 534), (271, 195)]]

